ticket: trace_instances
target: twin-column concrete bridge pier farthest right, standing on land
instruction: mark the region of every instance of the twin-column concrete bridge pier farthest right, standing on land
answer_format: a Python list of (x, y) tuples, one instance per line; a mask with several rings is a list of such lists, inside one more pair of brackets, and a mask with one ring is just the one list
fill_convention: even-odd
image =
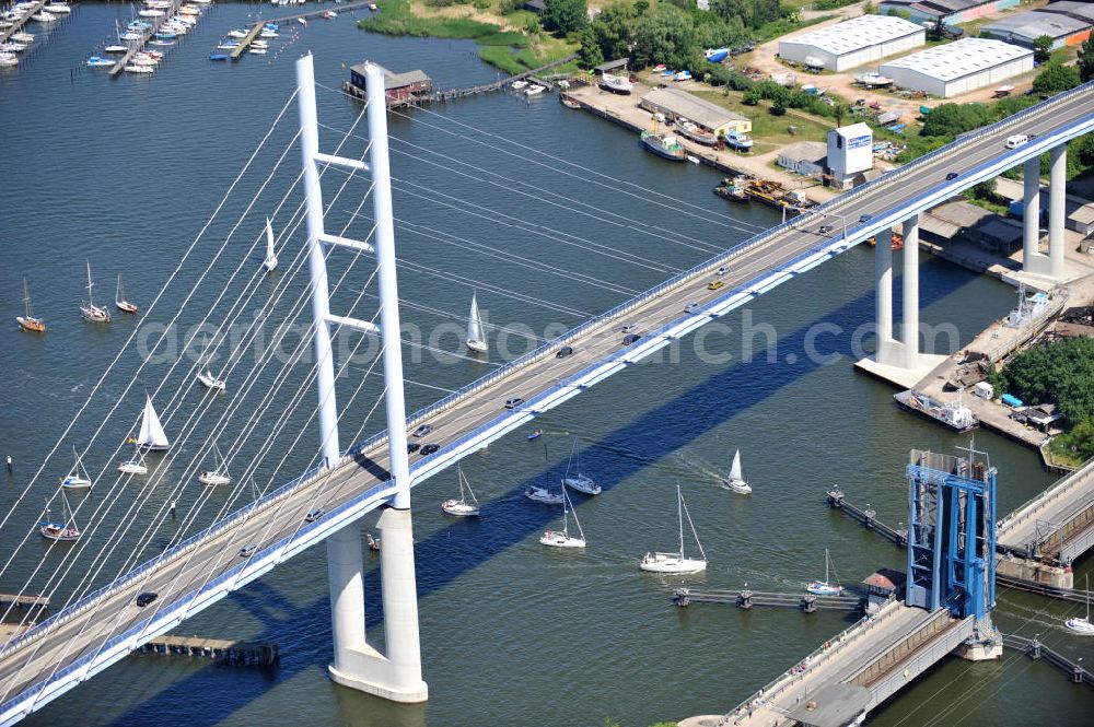
[(1068, 190), (1068, 146), (1059, 144), (1049, 151), (1048, 181), (1048, 254), (1040, 251), (1040, 157), (1027, 160), (1022, 179), (1022, 270), (1023, 272), (1060, 280), (1064, 275), (1063, 228), (1064, 196)]

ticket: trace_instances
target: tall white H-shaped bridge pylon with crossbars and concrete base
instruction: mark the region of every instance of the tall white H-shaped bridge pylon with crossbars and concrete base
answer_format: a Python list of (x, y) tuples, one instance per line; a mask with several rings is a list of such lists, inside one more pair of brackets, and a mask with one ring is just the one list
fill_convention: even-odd
[[(327, 538), (327, 573), (330, 582), (334, 662), (330, 678), (339, 684), (394, 702), (424, 702), (429, 696), (421, 678), (418, 638), (418, 597), (415, 582), (414, 537), (410, 523), (410, 468), (407, 461), (406, 404), (403, 397), (403, 351), (399, 341), (398, 284), (395, 275), (395, 228), (392, 221), (392, 179), (387, 159), (387, 99), (384, 74), (368, 63), (369, 163), (319, 152), (315, 110), (315, 74), (312, 56), (296, 61), (300, 105), (300, 140), (306, 198), (307, 256), (312, 281), (312, 316), (315, 319), (316, 385), (319, 407), (319, 450), (326, 467), (341, 458), (338, 443), (338, 408), (330, 347), (330, 324), (377, 332), (369, 321), (330, 314), (326, 247), (341, 246), (358, 253), (374, 253), (380, 285), (379, 333), (384, 356), (384, 404), (387, 414), (388, 453), (396, 489), (392, 506), (380, 517), (383, 549), (380, 553), (386, 654), (365, 642), (364, 574), (361, 530), (351, 524)], [(350, 172), (366, 172), (372, 179), (373, 243), (328, 235), (323, 222), (323, 190), (318, 165)]]

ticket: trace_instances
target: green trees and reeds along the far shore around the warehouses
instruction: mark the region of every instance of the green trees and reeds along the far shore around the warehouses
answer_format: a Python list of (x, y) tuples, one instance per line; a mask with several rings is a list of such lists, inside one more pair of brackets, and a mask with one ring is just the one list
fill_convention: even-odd
[[(768, 115), (783, 117), (788, 109), (798, 109), (834, 127), (858, 120), (870, 122), (857, 113), (851, 99), (810, 94), (798, 84), (784, 86), (770, 79), (754, 80), (733, 63), (707, 61), (703, 54), (707, 48), (750, 48), (835, 15), (803, 19), (801, 10), (806, 3), (799, 0), (709, 0), (709, 10), (699, 10), (695, 0), (592, 1), (595, 10), (590, 20), (586, 0), (545, 0), (542, 15), (525, 10), (524, 0), (379, 0), (380, 12), (359, 21), (358, 26), (387, 35), (474, 40), (479, 46), (479, 58), (509, 74), (539, 68), (572, 52), (579, 54), (578, 61), (559, 67), (558, 72), (577, 73), (624, 57), (630, 58), (632, 72), (664, 63), (689, 70), (696, 81), (709, 86), (697, 95), (745, 112), (754, 124)], [(852, 1), (818, 0), (812, 4), (814, 11), (829, 11)], [(1055, 56), (1046, 54), (1031, 95), (989, 103), (943, 103), (929, 116), (920, 117), (919, 125), (909, 124), (903, 132), (871, 122), (874, 137), (904, 146), (894, 160), (897, 164), (910, 162), (962, 133), (1094, 78), (1094, 40), (1083, 44), (1076, 65), (1066, 63), (1069, 57), (1067, 50)], [(742, 55), (738, 65), (747, 66), (747, 54)], [(765, 142), (761, 134), (756, 139)], [(1069, 151), (1069, 179), (1094, 171), (1094, 136), (1073, 140)], [(1047, 174), (1047, 154), (1041, 166)], [(1019, 174), (1019, 169), (1011, 169), (1004, 176), (1016, 178)], [(991, 201), (990, 195), (979, 197), (984, 203)]]

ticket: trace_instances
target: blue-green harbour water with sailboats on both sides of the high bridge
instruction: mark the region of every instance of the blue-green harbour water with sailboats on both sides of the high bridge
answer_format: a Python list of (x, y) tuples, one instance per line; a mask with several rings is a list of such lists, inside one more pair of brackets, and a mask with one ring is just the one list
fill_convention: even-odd
[[(478, 61), (472, 44), (372, 36), (346, 16), (290, 28), (266, 58), (210, 63), (220, 36), (259, 11), (266, 9), (213, 7), (154, 78), (109, 80), (79, 63), (127, 10), (85, 5), (54, 28), (18, 71), (0, 73), (0, 159), (8, 181), (0, 213), (0, 301), (10, 316), (16, 315), (26, 277), (35, 310), (49, 326), (43, 337), (10, 330), (0, 343), (7, 384), (0, 453), (15, 460), (14, 473), (0, 476), (0, 505), (10, 511), (0, 543), (10, 553), (26, 540), (20, 556), (0, 573), (0, 590), (18, 590), (30, 578), (32, 588), (49, 589), (58, 599), (82, 593), (85, 573), (95, 573), (89, 581), (101, 583), (127, 565), (125, 553), (159, 552), (173, 528), (200, 529), (217, 513), (246, 501), (245, 484), (206, 495), (198, 491), (191, 464), (209, 464), (197, 444), (206, 437), (216, 437), (225, 452), (237, 485), (252, 474), (259, 488), (276, 485), (311, 464), (314, 394), (306, 388), (293, 397), (306, 386), (307, 364), (290, 367), (278, 403), (268, 411), (264, 395), (281, 382), (275, 376), (280, 366), (255, 371), (264, 355), (255, 352), (263, 351), (255, 339), (278, 341), (277, 360), (284, 361), (304, 332), (278, 332), (279, 324), (294, 319), (301, 309), (295, 302), (305, 293), (304, 275), (293, 265), (302, 232), (290, 225), (299, 192), (277, 209), (299, 169), (299, 151), (288, 148), (295, 133), (294, 107), (179, 266), (288, 103), (293, 59), (315, 54), (317, 80), (326, 86), (318, 91), (318, 103), (327, 151), (361, 110), (337, 93), (350, 63), (368, 58), (393, 70), (421, 68), (449, 87), (497, 78)], [(358, 127), (362, 137), (363, 129), (363, 124)], [(503, 327), (491, 338), (516, 355), (539, 337), (777, 222), (768, 210), (730, 207), (712, 196), (713, 172), (653, 159), (631, 134), (566, 109), (552, 97), (527, 103), (494, 94), (415, 110), (393, 117), (391, 132), (403, 319), (407, 338), (420, 347), (461, 350), (463, 317), (477, 292), (488, 320)], [(342, 153), (360, 155), (364, 145), (350, 137)], [(244, 214), (267, 175), (268, 185)], [(337, 173), (327, 176), (328, 201), (342, 181)], [(348, 234), (368, 234), (368, 203), (354, 216), (365, 192), (363, 180), (348, 180), (331, 204), (328, 227), (341, 231), (349, 223)], [(279, 236), (286, 233), (279, 241), (282, 267), (247, 288), (260, 258), (253, 245), (267, 214), (275, 218)], [(129, 297), (142, 307), (161, 291), (162, 301), (139, 321), (116, 317), (108, 328), (81, 321), (85, 261), (97, 283), (96, 301), (109, 302), (119, 271)], [(333, 307), (371, 318), (375, 288), (366, 285), (369, 266), (353, 262), (348, 255), (331, 260), (333, 279), (345, 273)], [(237, 267), (243, 274), (233, 278)], [(924, 260), (922, 280), (924, 323), (953, 323), (961, 342), (1013, 301), (1012, 290), (936, 261)], [(233, 307), (245, 289), (253, 295)], [(257, 312), (263, 312), (263, 326), (255, 323)], [(872, 312), (871, 251), (856, 249), (731, 316), (729, 328), (712, 329), (701, 350), (686, 341), (672, 359), (666, 354), (636, 366), (540, 420), (555, 474), (565, 469), (577, 441), (583, 469), (606, 488), (579, 504), (591, 543), (585, 553), (544, 552), (536, 542), (557, 517), (519, 495), (524, 483), (544, 477), (538, 443), (514, 436), (464, 460), (484, 503), (478, 521), (442, 516), (438, 504), (454, 491), (454, 474), (419, 486), (415, 528), (431, 692), (427, 705), (395, 707), (336, 688), (326, 678), (326, 568), (323, 550), (313, 549), (179, 630), (276, 641), (283, 655), (277, 672), (132, 658), (28, 724), (85, 723), (91, 716), (92, 724), (117, 725), (309, 720), (440, 727), (545, 719), (593, 725), (610, 718), (631, 727), (725, 710), (842, 629), (842, 617), (741, 613), (714, 606), (677, 610), (668, 602), (671, 584), (640, 575), (636, 560), (675, 541), (678, 481), (711, 562), (700, 581), (712, 587), (747, 582), (756, 588), (795, 589), (817, 575), (825, 547), (846, 583), (877, 566), (903, 564), (900, 551), (829, 513), (822, 502), (824, 490), (838, 484), (856, 501), (871, 503), (881, 518), (901, 521), (907, 450), (950, 450), (961, 443), (898, 411), (891, 389), (852, 373), (854, 331)], [(176, 314), (177, 333), (142, 365), (138, 349), (150, 349)], [(214, 370), (232, 372), (231, 396), (213, 401), (186, 389), (196, 355), (186, 344), (200, 342), (195, 327), (203, 320), (214, 341)], [(237, 325), (228, 341), (214, 338), (216, 326), (230, 320)], [(811, 327), (818, 323), (829, 327), (816, 337), (818, 329), (811, 333)], [(20, 497), (135, 331), (132, 347)], [(369, 418), (381, 391), (379, 377), (365, 376), (374, 351), (365, 344), (349, 359), (358, 340), (346, 338), (338, 354), (346, 364), (339, 379), (344, 444), (358, 432), (377, 431), (383, 421), (382, 409)], [(805, 347), (813, 343), (821, 353), (837, 354), (836, 360), (811, 363)], [(769, 361), (770, 344), (776, 348)], [(411, 408), (489, 371), (486, 364), (437, 357), (420, 347), (404, 350)], [(757, 352), (752, 362), (743, 361), (747, 350)], [(173, 367), (179, 356), (184, 364)], [(88, 466), (95, 473), (112, 468), (146, 389), (179, 442), (164, 464), (166, 477), (149, 492), (139, 484), (114, 488), (114, 479), (104, 474), (91, 493), (72, 499), (85, 529), (102, 528), (85, 537), (88, 551), (68, 559), (59, 550), (47, 553), (37, 535), (28, 533), (54, 495), (54, 478), (69, 466), (69, 447), (91, 443)], [(248, 419), (256, 411), (266, 413), (252, 427)], [(266, 447), (268, 438), (272, 444)], [(1001, 512), (1051, 481), (1029, 450), (987, 433), (978, 435), (977, 445), (1000, 468)], [(747, 499), (717, 485), (717, 473), (728, 469), (736, 448), (755, 488)], [(146, 499), (136, 524), (120, 531), (118, 550), (100, 567), (93, 554), (114, 542), (106, 533), (128, 521), (126, 508)], [(161, 508), (173, 499), (178, 519), (164, 523)], [(59, 509), (56, 501), (53, 508)], [(47, 567), (33, 574), (43, 556)], [(70, 563), (67, 576), (48, 579)], [(369, 585), (370, 637), (379, 641), (374, 577)], [(1004, 594), (997, 618), (1003, 629), (1039, 633), (1078, 657), (1090, 654), (1090, 646), (1068, 638), (1058, 625), (1073, 610)], [(1081, 724), (1086, 699), (1024, 657), (1008, 655), (1000, 664), (973, 668), (948, 661), (878, 711), (873, 724), (1000, 725), (1029, 722), (1034, 715), (1037, 724)]]

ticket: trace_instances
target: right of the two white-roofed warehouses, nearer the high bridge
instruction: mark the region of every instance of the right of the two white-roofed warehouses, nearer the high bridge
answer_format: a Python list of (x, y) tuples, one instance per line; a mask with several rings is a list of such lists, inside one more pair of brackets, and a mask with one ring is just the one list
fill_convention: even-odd
[(963, 38), (882, 63), (878, 72), (901, 89), (951, 98), (1033, 70), (1028, 48), (987, 38)]

